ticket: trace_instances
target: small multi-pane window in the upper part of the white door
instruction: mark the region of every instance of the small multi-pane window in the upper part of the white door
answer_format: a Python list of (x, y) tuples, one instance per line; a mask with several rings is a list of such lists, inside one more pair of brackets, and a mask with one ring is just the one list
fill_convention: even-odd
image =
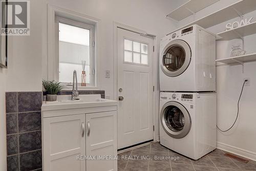
[(147, 45), (124, 39), (124, 62), (148, 65)]

